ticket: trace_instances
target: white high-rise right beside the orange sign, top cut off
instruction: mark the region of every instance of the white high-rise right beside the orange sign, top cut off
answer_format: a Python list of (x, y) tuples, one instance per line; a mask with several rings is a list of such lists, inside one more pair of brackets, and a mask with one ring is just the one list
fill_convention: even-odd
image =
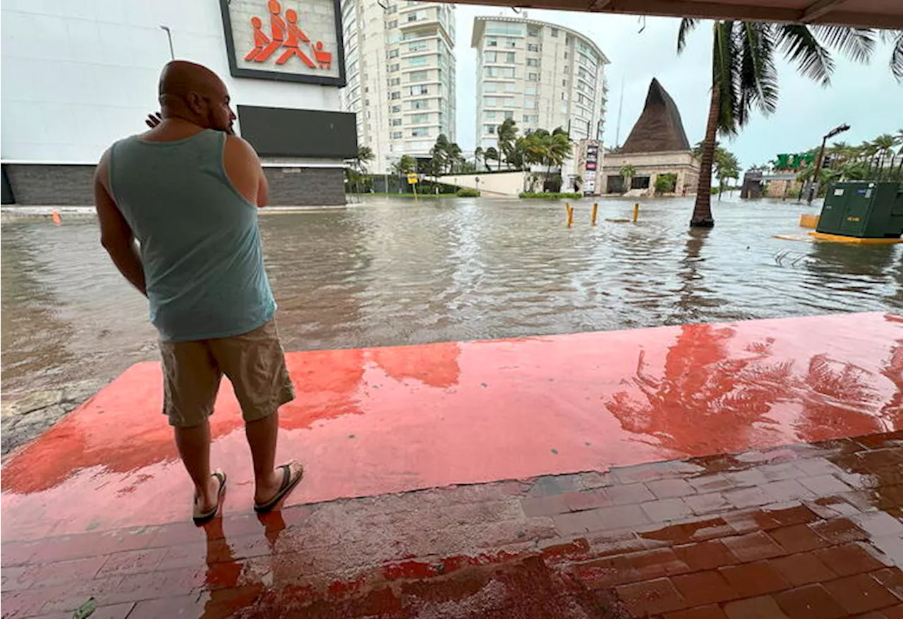
[(402, 155), (430, 156), (436, 137), (455, 136), (454, 6), (414, 0), (342, 0), (348, 86), (342, 107), (357, 114), (358, 145), (371, 172)]

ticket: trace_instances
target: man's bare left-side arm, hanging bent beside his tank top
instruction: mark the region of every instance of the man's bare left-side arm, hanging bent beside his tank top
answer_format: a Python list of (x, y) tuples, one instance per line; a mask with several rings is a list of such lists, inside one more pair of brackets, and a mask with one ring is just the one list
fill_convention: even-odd
[(97, 172), (94, 174), (94, 206), (98, 210), (100, 221), (100, 244), (107, 249), (113, 264), (123, 277), (142, 295), (147, 296), (144, 285), (144, 267), (138, 257), (135, 235), (128, 227), (126, 218), (116, 208), (116, 202), (107, 188), (109, 173), (109, 151), (100, 159)]

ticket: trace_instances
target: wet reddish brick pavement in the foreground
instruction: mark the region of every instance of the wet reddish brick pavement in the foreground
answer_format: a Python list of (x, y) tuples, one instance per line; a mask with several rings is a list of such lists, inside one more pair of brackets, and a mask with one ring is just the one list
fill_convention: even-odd
[(0, 545), (0, 616), (903, 617), (903, 433)]

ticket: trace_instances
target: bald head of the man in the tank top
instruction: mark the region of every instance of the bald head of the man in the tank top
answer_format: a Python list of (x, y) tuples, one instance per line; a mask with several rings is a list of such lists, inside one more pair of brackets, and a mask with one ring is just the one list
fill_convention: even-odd
[(205, 129), (231, 132), (235, 115), (226, 84), (213, 71), (189, 61), (167, 62), (158, 86), (164, 118), (182, 118)]

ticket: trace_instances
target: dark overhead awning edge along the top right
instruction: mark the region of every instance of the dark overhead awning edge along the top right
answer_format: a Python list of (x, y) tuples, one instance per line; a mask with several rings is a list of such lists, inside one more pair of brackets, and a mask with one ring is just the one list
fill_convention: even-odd
[(831, 23), (903, 30), (903, 0), (455, 0), (471, 5), (703, 17), (759, 22)]

